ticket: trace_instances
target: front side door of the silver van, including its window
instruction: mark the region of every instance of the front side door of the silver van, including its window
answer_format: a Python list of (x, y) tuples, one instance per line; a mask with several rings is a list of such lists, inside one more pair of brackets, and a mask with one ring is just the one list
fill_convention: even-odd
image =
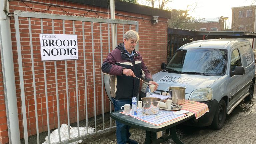
[(236, 48), (231, 52), (231, 61), (229, 64), (229, 78), (230, 78), (230, 84), (228, 85), (229, 92), (229, 103), (228, 108), (233, 105), (234, 102), (236, 102), (237, 99), (244, 93), (243, 92), (243, 86), (244, 86), (244, 75), (234, 75), (231, 77), (231, 71), (235, 69), (235, 66), (243, 66), (241, 62), (241, 52)]

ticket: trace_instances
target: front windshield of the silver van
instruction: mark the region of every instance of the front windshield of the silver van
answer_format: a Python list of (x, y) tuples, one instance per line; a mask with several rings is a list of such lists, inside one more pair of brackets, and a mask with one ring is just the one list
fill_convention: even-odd
[(177, 51), (165, 70), (200, 75), (223, 75), (227, 51), (222, 49), (185, 49)]

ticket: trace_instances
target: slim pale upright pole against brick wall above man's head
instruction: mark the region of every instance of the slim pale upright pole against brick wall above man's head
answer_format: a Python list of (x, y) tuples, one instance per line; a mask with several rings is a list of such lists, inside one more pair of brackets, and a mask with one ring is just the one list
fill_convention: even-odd
[[(115, 0), (110, 0), (110, 18), (115, 19)], [(116, 48), (116, 25), (111, 24), (112, 50)]]

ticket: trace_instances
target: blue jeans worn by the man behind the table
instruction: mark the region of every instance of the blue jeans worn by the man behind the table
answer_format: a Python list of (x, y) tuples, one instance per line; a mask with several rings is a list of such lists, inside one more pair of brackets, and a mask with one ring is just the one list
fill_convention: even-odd
[[(124, 104), (132, 104), (131, 100), (117, 100), (111, 97), (115, 111), (121, 110), (121, 106), (124, 106)], [(118, 144), (126, 144), (126, 142), (129, 140), (129, 137), (131, 136), (129, 132), (130, 126), (125, 125), (119, 121), (116, 121), (116, 139)]]

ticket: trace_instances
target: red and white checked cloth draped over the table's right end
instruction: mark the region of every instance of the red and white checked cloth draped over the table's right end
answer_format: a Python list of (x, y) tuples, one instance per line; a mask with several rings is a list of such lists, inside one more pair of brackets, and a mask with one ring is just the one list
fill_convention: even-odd
[(190, 111), (195, 114), (196, 119), (200, 118), (205, 113), (209, 112), (207, 104), (195, 102), (195, 101), (185, 101), (185, 104), (181, 105), (184, 110)]

